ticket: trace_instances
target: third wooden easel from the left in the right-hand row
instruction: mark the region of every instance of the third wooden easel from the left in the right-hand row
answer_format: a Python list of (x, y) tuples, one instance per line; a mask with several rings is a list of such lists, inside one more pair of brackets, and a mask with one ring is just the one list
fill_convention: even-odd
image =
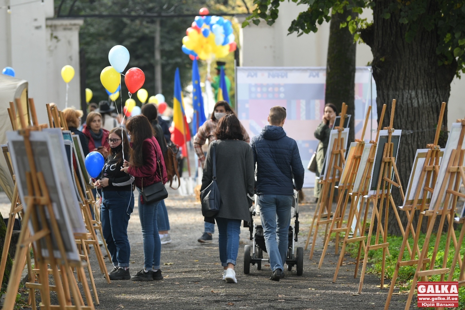
[[(359, 243), (357, 262), (355, 264), (355, 271), (353, 275), (354, 278), (357, 277), (357, 273), (359, 270), (360, 253), (362, 251), (362, 247), (364, 248), (364, 251), (365, 251), (365, 240), (366, 240), (365, 225), (366, 225), (366, 219), (368, 215), (368, 206), (369, 206), (368, 203), (366, 203), (365, 205), (365, 202), (366, 202), (365, 195), (368, 194), (368, 190), (369, 190), (372, 165), (373, 165), (375, 152), (376, 152), (376, 141), (378, 141), (379, 131), (381, 130), (381, 126), (383, 124), (385, 112), (386, 112), (386, 105), (383, 105), (383, 109), (381, 110), (381, 117), (380, 117), (379, 125), (378, 125), (378, 131), (376, 133), (376, 138), (374, 141), (370, 141), (370, 144), (372, 146), (370, 148), (370, 154), (368, 156), (367, 163), (365, 165), (364, 170), (362, 171), (362, 177), (359, 183), (359, 187), (353, 188), (353, 192), (349, 193), (349, 195), (352, 196), (351, 205), (349, 209), (349, 217), (347, 220), (347, 227), (345, 229), (345, 236), (342, 242), (341, 252), (339, 253), (339, 262), (338, 264), (336, 264), (336, 270), (334, 271), (334, 277), (332, 278), (333, 283), (336, 282), (338, 278), (339, 268), (340, 266), (342, 266), (342, 263), (344, 261), (345, 247), (347, 246), (347, 244), (355, 243), (355, 242)], [(360, 171), (357, 171), (357, 173), (360, 173)], [(357, 206), (359, 205), (359, 203), (360, 203), (360, 209), (357, 209)], [(365, 205), (365, 212), (362, 212), (364, 205)], [(363, 219), (361, 218), (362, 214), (364, 214)], [(356, 219), (355, 228), (351, 234), (352, 222), (354, 218)], [(357, 235), (359, 235), (359, 237), (357, 237)]]

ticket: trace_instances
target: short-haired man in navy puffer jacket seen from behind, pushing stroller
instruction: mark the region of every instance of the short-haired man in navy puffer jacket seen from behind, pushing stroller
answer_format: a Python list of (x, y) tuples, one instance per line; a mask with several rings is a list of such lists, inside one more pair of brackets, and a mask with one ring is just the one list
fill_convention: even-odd
[[(257, 164), (255, 192), (273, 271), (270, 277), (272, 281), (284, 277), (292, 196), (294, 188), (300, 190), (304, 184), (304, 167), (299, 147), (294, 139), (286, 136), (283, 129), (285, 120), (286, 109), (273, 106), (268, 115), (270, 125), (263, 127), (262, 132), (250, 141), (253, 159)], [(292, 178), (295, 184), (292, 184)]]

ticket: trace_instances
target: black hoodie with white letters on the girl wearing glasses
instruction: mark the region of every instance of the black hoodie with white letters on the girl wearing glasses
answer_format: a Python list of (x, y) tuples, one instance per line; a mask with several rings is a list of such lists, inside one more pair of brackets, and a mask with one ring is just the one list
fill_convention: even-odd
[[(122, 165), (118, 165), (119, 158), (114, 154), (108, 155), (103, 165), (100, 179), (108, 178), (108, 186), (102, 187), (102, 191), (132, 191), (134, 177), (121, 171)], [(127, 160), (127, 159), (126, 159)]]

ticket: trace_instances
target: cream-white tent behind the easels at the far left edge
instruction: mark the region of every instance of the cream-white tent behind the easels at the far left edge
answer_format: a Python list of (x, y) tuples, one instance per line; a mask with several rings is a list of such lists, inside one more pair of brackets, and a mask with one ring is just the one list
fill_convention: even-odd
[[(13, 78), (8, 75), (0, 74), (0, 144), (7, 143), (6, 132), (12, 130), (7, 108), (10, 107), (10, 101), (14, 102), (16, 114), (18, 107), (15, 99), (21, 100), (21, 107), (27, 123), (30, 123), (29, 109), (27, 104), (27, 81), (24, 79)], [(17, 115), (18, 116), (18, 115)], [(19, 123), (19, 118), (17, 118)], [(13, 180), (10, 176), (7, 162), (4, 156), (0, 156), (0, 186), (3, 188), (10, 200), (13, 199)]]

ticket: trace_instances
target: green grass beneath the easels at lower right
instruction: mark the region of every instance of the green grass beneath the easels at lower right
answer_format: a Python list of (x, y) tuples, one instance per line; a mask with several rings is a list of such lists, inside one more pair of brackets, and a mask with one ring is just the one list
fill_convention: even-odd
[[(461, 229), (461, 226), (459, 226), (458, 229), (455, 231), (457, 239), (459, 237), (460, 229)], [(443, 233), (441, 235), (441, 240), (439, 241), (438, 249), (445, 249), (446, 237), (447, 237), (446, 233)], [(389, 252), (391, 254), (391, 256), (386, 256), (386, 262), (385, 262), (385, 277), (388, 279), (392, 279), (392, 275), (394, 274), (394, 270), (397, 264), (397, 259), (399, 257), (400, 246), (402, 245), (402, 239), (403, 237), (401, 236), (399, 237), (399, 236), (389, 235), (387, 237), (387, 242), (389, 243)], [(420, 250), (421, 250), (421, 245), (424, 243), (424, 241), (425, 241), (425, 234), (420, 233), (420, 236), (419, 236)], [(410, 246), (413, 247), (412, 236), (409, 237), (408, 242)], [(430, 254), (432, 253), (435, 242), (436, 242), (436, 235), (432, 234), (430, 243), (429, 243), (428, 253)], [(374, 244), (374, 237), (372, 237), (371, 244)], [(357, 257), (357, 253), (359, 251), (358, 243), (347, 244), (346, 251), (352, 257)], [(465, 252), (465, 248), (462, 247), (460, 251), (460, 257), (463, 257), (464, 252)], [(362, 255), (363, 255), (363, 251), (362, 251)], [(451, 267), (453, 256), (454, 256), (454, 249), (453, 249), (453, 244), (451, 241), (451, 245), (449, 248), (449, 255), (447, 259), (447, 268)], [(382, 258), (383, 258), (383, 251), (381, 250), (368, 251), (367, 273), (380, 274)], [(410, 259), (410, 255), (409, 255), (407, 248), (405, 247), (403, 260), (409, 260), (409, 259)], [(418, 259), (418, 255), (415, 255), (415, 259)], [(436, 261), (434, 263), (436, 268), (442, 268), (443, 259), (444, 259), (444, 250), (439, 250), (438, 255), (436, 257)], [(429, 268), (429, 264), (427, 264), (426, 267)], [(416, 269), (417, 269), (416, 265), (403, 266), (399, 269), (399, 273), (398, 273), (397, 280), (396, 280), (396, 286), (399, 288), (401, 292), (408, 292), (410, 290), (410, 287), (412, 286), (412, 279), (413, 279), (413, 276), (415, 275)], [(452, 281), (458, 281), (459, 273), (460, 273), (460, 268), (458, 267), (458, 265), (456, 265), (454, 269), (454, 275), (452, 277)], [(447, 277), (448, 277), (448, 274), (446, 274), (445, 276), (446, 280), (447, 280)], [(440, 281), (440, 275), (434, 275), (434, 276), (428, 277), (428, 281)], [(458, 300), (459, 300), (459, 307), (457, 309), (465, 310), (465, 287), (461, 287), (458, 289)]]

